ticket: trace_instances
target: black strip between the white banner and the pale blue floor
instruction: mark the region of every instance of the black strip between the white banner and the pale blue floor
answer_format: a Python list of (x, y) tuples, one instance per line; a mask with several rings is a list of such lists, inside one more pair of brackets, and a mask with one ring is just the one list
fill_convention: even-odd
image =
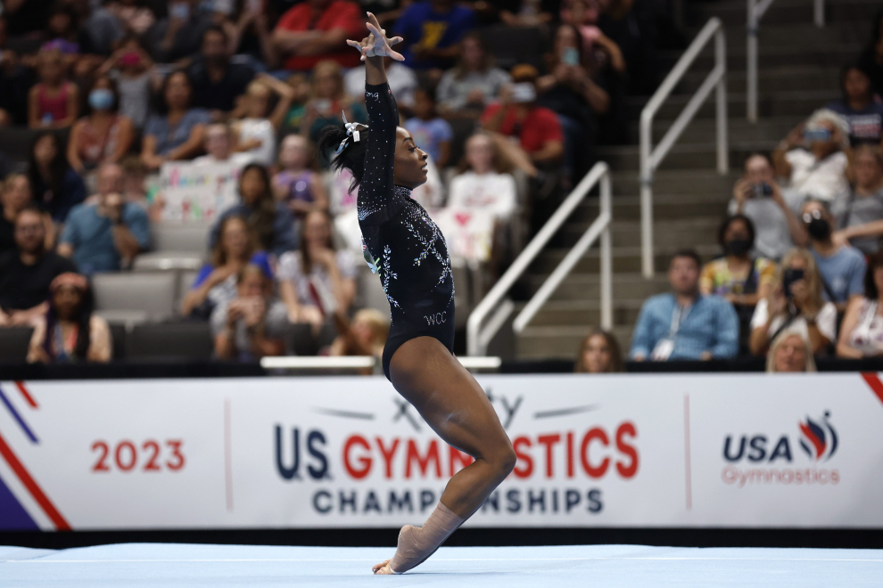
[[(219, 543), (394, 547), (398, 529), (236, 529), (188, 531), (0, 532), (0, 545), (66, 549), (107, 543)], [(465, 528), (450, 547), (642, 544), (674, 547), (883, 549), (883, 529)]]

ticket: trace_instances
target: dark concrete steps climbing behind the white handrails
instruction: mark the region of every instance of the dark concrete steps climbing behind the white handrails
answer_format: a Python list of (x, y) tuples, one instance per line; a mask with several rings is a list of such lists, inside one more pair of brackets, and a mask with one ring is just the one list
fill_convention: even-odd
[[(614, 169), (614, 334), (627, 351), (631, 329), (646, 298), (668, 290), (665, 267), (677, 249), (692, 247), (710, 259), (720, 252), (718, 226), (726, 214), (732, 185), (745, 157), (771, 151), (788, 131), (813, 110), (840, 95), (839, 72), (861, 52), (879, 11), (879, 0), (828, 0), (826, 27), (813, 26), (813, 3), (776, 0), (760, 27), (759, 111), (761, 120), (745, 119), (746, 4), (744, 0), (688, 3), (688, 38), (712, 17), (721, 18), (727, 35), (727, 91), (730, 135), (730, 174), (718, 175), (714, 135), (714, 94), (687, 128), (657, 171), (654, 182), (656, 276), (640, 274), (640, 201), (638, 147), (610, 147), (599, 158)], [(680, 52), (662, 52), (663, 69), (671, 69)], [(657, 113), (654, 141), (658, 142), (681, 112), (692, 91), (714, 66), (706, 51)], [(629, 98), (637, 121), (648, 97)], [(629, 129), (637, 143), (637, 122)], [(598, 200), (588, 198), (577, 208), (549, 247), (524, 276), (522, 297), (538, 290), (558, 262), (598, 216)], [(523, 359), (573, 359), (579, 342), (600, 321), (598, 248), (590, 249), (567, 276), (532, 323), (516, 338), (516, 356)], [(524, 302), (516, 303), (516, 312)]]

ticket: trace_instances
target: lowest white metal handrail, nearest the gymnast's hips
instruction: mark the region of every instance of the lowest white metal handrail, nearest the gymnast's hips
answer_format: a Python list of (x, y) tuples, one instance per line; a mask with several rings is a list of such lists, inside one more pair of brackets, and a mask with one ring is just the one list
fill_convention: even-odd
[[(574, 212), (574, 209), (580, 205), (590, 190), (598, 183), (601, 184), (601, 210), (598, 218), (583, 233), (580, 240), (577, 241), (565, 258), (557, 265), (555, 271), (549, 275), (546, 282), (543, 282), (540, 290), (534, 294), (531, 301), (518, 314), (513, 327), (516, 332), (524, 330), (524, 327), (531, 321), (533, 315), (536, 314), (552, 292), (556, 290), (565, 276), (570, 273), (574, 265), (576, 265), (586, 250), (590, 248), (591, 244), (600, 236), (601, 327), (604, 329), (611, 328), (613, 325), (613, 260), (610, 240), (610, 223), (613, 218), (612, 190), (610, 167), (607, 166), (607, 163), (600, 161), (582, 178), (580, 183), (574, 188), (574, 191), (570, 192), (565, 201), (561, 203), (561, 206), (549, 217), (549, 220), (542, 226), (540, 232), (527, 244), (521, 255), (516, 257), (516, 260), (509, 266), (506, 273), (494, 284), (491, 291), (475, 306), (475, 310), (472, 311), (472, 314), (469, 315), (466, 321), (466, 351), (468, 355), (483, 355), (486, 352), (493, 336), (497, 334), (503, 323), (506, 323), (509, 314), (512, 314), (512, 311), (515, 309), (515, 304), (508, 298), (504, 299), (504, 297), (516, 280), (531, 265), (533, 259), (540, 254), (552, 236), (561, 228), (561, 225), (564, 225), (567, 218)], [(493, 311), (493, 314), (487, 321), (484, 329), (482, 329), (482, 323), (491, 314), (491, 311)]]

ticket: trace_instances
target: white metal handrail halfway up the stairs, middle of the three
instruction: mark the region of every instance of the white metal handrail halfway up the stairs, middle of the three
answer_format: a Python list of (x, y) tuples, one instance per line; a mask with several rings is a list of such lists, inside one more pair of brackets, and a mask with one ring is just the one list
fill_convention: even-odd
[[(674, 120), (662, 141), (653, 149), (653, 118), (674, 87), (687, 73), (689, 66), (696, 61), (699, 53), (714, 37), (714, 69), (689, 99), (684, 110)], [(730, 169), (729, 146), (727, 142), (727, 57), (726, 38), (723, 25), (717, 17), (709, 19), (699, 31), (681, 59), (663, 80), (640, 113), (640, 224), (641, 224), (641, 269), (647, 278), (653, 277), (653, 174), (662, 163), (674, 142), (678, 140), (697, 111), (706, 102), (708, 94), (717, 90), (717, 170), (721, 174)]]

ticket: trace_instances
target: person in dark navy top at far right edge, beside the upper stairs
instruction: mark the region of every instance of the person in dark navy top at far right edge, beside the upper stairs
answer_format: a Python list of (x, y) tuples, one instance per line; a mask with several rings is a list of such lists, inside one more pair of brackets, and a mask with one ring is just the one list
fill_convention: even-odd
[(843, 98), (825, 108), (837, 112), (849, 125), (849, 143), (879, 145), (883, 141), (883, 104), (874, 101), (871, 78), (858, 65), (849, 65), (840, 74)]

